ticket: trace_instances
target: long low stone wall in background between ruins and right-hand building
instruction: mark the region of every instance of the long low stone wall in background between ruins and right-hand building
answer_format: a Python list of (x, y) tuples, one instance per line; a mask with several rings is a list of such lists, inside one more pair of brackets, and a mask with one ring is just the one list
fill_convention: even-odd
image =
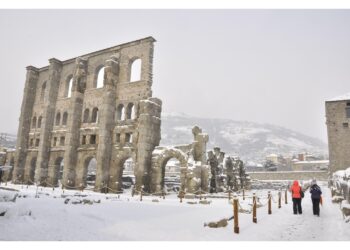
[(248, 172), (251, 179), (257, 180), (328, 180), (328, 171), (276, 171), (276, 172)]

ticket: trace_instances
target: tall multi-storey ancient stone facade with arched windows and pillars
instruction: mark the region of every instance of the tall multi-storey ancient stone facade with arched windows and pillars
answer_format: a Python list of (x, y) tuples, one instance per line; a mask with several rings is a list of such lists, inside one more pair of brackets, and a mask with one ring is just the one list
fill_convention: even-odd
[[(85, 186), (95, 158), (95, 190), (119, 190), (131, 157), (136, 189), (149, 189), (162, 109), (151, 90), (154, 42), (147, 37), (65, 61), (52, 58), (43, 68), (28, 66), (12, 180), (56, 186), (63, 165), (66, 188)], [(140, 75), (131, 79), (137, 65)]]

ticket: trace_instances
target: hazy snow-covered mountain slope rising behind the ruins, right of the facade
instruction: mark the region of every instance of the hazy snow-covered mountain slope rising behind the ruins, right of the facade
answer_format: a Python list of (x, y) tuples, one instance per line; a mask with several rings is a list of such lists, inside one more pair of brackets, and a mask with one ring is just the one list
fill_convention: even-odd
[(316, 138), (270, 124), (228, 119), (195, 118), (182, 114), (162, 115), (161, 145), (192, 142), (192, 127), (209, 134), (208, 149), (239, 155), (244, 160), (262, 160), (271, 153), (290, 155), (309, 152), (327, 154), (327, 145)]

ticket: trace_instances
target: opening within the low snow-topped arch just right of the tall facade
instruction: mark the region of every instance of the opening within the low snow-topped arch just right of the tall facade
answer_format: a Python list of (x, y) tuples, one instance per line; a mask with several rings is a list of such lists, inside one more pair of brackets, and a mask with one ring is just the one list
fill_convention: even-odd
[(162, 187), (166, 192), (178, 192), (181, 187), (180, 161), (176, 158), (169, 159), (162, 168)]

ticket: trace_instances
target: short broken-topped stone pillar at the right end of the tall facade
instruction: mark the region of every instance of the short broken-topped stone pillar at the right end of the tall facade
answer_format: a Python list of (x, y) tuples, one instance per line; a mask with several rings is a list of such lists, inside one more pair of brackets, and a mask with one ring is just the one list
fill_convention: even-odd
[(162, 101), (158, 98), (141, 100), (139, 103), (139, 123), (136, 153), (136, 189), (144, 185), (146, 192), (150, 190), (150, 172), (152, 152), (160, 142), (160, 114)]

